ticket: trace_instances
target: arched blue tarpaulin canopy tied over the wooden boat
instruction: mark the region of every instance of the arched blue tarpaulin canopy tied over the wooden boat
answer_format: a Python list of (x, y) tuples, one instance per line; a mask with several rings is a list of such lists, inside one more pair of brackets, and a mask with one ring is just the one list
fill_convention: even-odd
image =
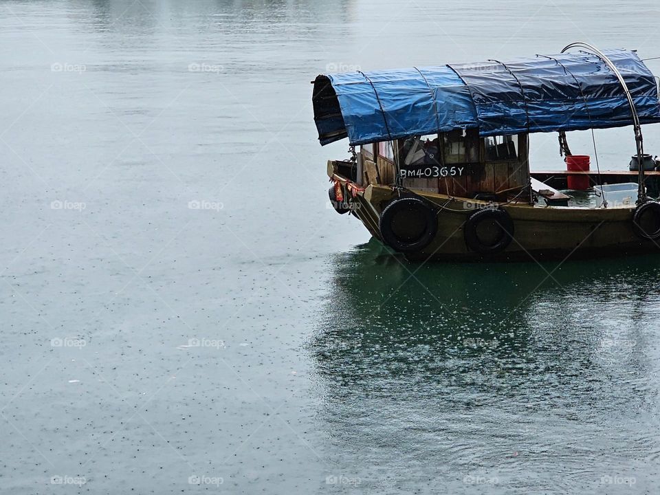
[[(642, 124), (660, 122), (653, 74), (628, 50), (604, 50), (628, 85)], [(624, 89), (586, 52), (437, 67), (320, 75), (314, 120), (321, 144), (352, 145), (478, 129), (483, 136), (632, 124)]]

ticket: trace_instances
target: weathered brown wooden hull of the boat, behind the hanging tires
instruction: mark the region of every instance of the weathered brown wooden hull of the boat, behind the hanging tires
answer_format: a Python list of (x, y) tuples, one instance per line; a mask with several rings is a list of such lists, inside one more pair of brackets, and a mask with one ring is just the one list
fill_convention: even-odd
[[(484, 256), (465, 243), (467, 218), (489, 203), (432, 192), (412, 191), (439, 207), (437, 234), (419, 252), (406, 253), (415, 261), (531, 261), (567, 257), (624, 256), (660, 250), (658, 243), (641, 240), (632, 229), (631, 208), (575, 208), (531, 206), (527, 203), (500, 205), (514, 222), (513, 240), (498, 254)], [(373, 236), (382, 241), (380, 214), (397, 193), (388, 186), (367, 186), (353, 197), (353, 214)]]

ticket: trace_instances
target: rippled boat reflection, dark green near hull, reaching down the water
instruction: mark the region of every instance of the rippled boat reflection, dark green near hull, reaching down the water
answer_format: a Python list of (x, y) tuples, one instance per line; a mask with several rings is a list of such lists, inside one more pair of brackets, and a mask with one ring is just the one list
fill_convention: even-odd
[(374, 493), (652, 486), (657, 259), (420, 267), (380, 246), (334, 260), (311, 342), (344, 476)]

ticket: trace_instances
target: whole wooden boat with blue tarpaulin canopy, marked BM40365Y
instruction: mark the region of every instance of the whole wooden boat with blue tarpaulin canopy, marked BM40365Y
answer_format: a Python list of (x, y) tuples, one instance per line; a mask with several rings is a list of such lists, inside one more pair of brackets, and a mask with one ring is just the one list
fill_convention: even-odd
[[(641, 125), (660, 122), (660, 102), (636, 52), (573, 43), (511, 63), (322, 74), (312, 100), (320, 143), (351, 146), (349, 159), (328, 162), (333, 206), (410, 260), (660, 248), (660, 171), (529, 170), (530, 133), (559, 133), (570, 162), (566, 132), (621, 126), (648, 162)], [(580, 175), (596, 187), (632, 182), (632, 200), (569, 206), (558, 189)]]

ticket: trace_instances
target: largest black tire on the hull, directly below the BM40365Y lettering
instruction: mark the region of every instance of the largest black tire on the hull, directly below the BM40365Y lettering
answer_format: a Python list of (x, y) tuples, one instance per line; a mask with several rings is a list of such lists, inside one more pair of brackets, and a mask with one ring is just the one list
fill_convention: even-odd
[(399, 252), (426, 248), (438, 231), (437, 212), (416, 197), (395, 199), (378, 222), (383, 242)]

